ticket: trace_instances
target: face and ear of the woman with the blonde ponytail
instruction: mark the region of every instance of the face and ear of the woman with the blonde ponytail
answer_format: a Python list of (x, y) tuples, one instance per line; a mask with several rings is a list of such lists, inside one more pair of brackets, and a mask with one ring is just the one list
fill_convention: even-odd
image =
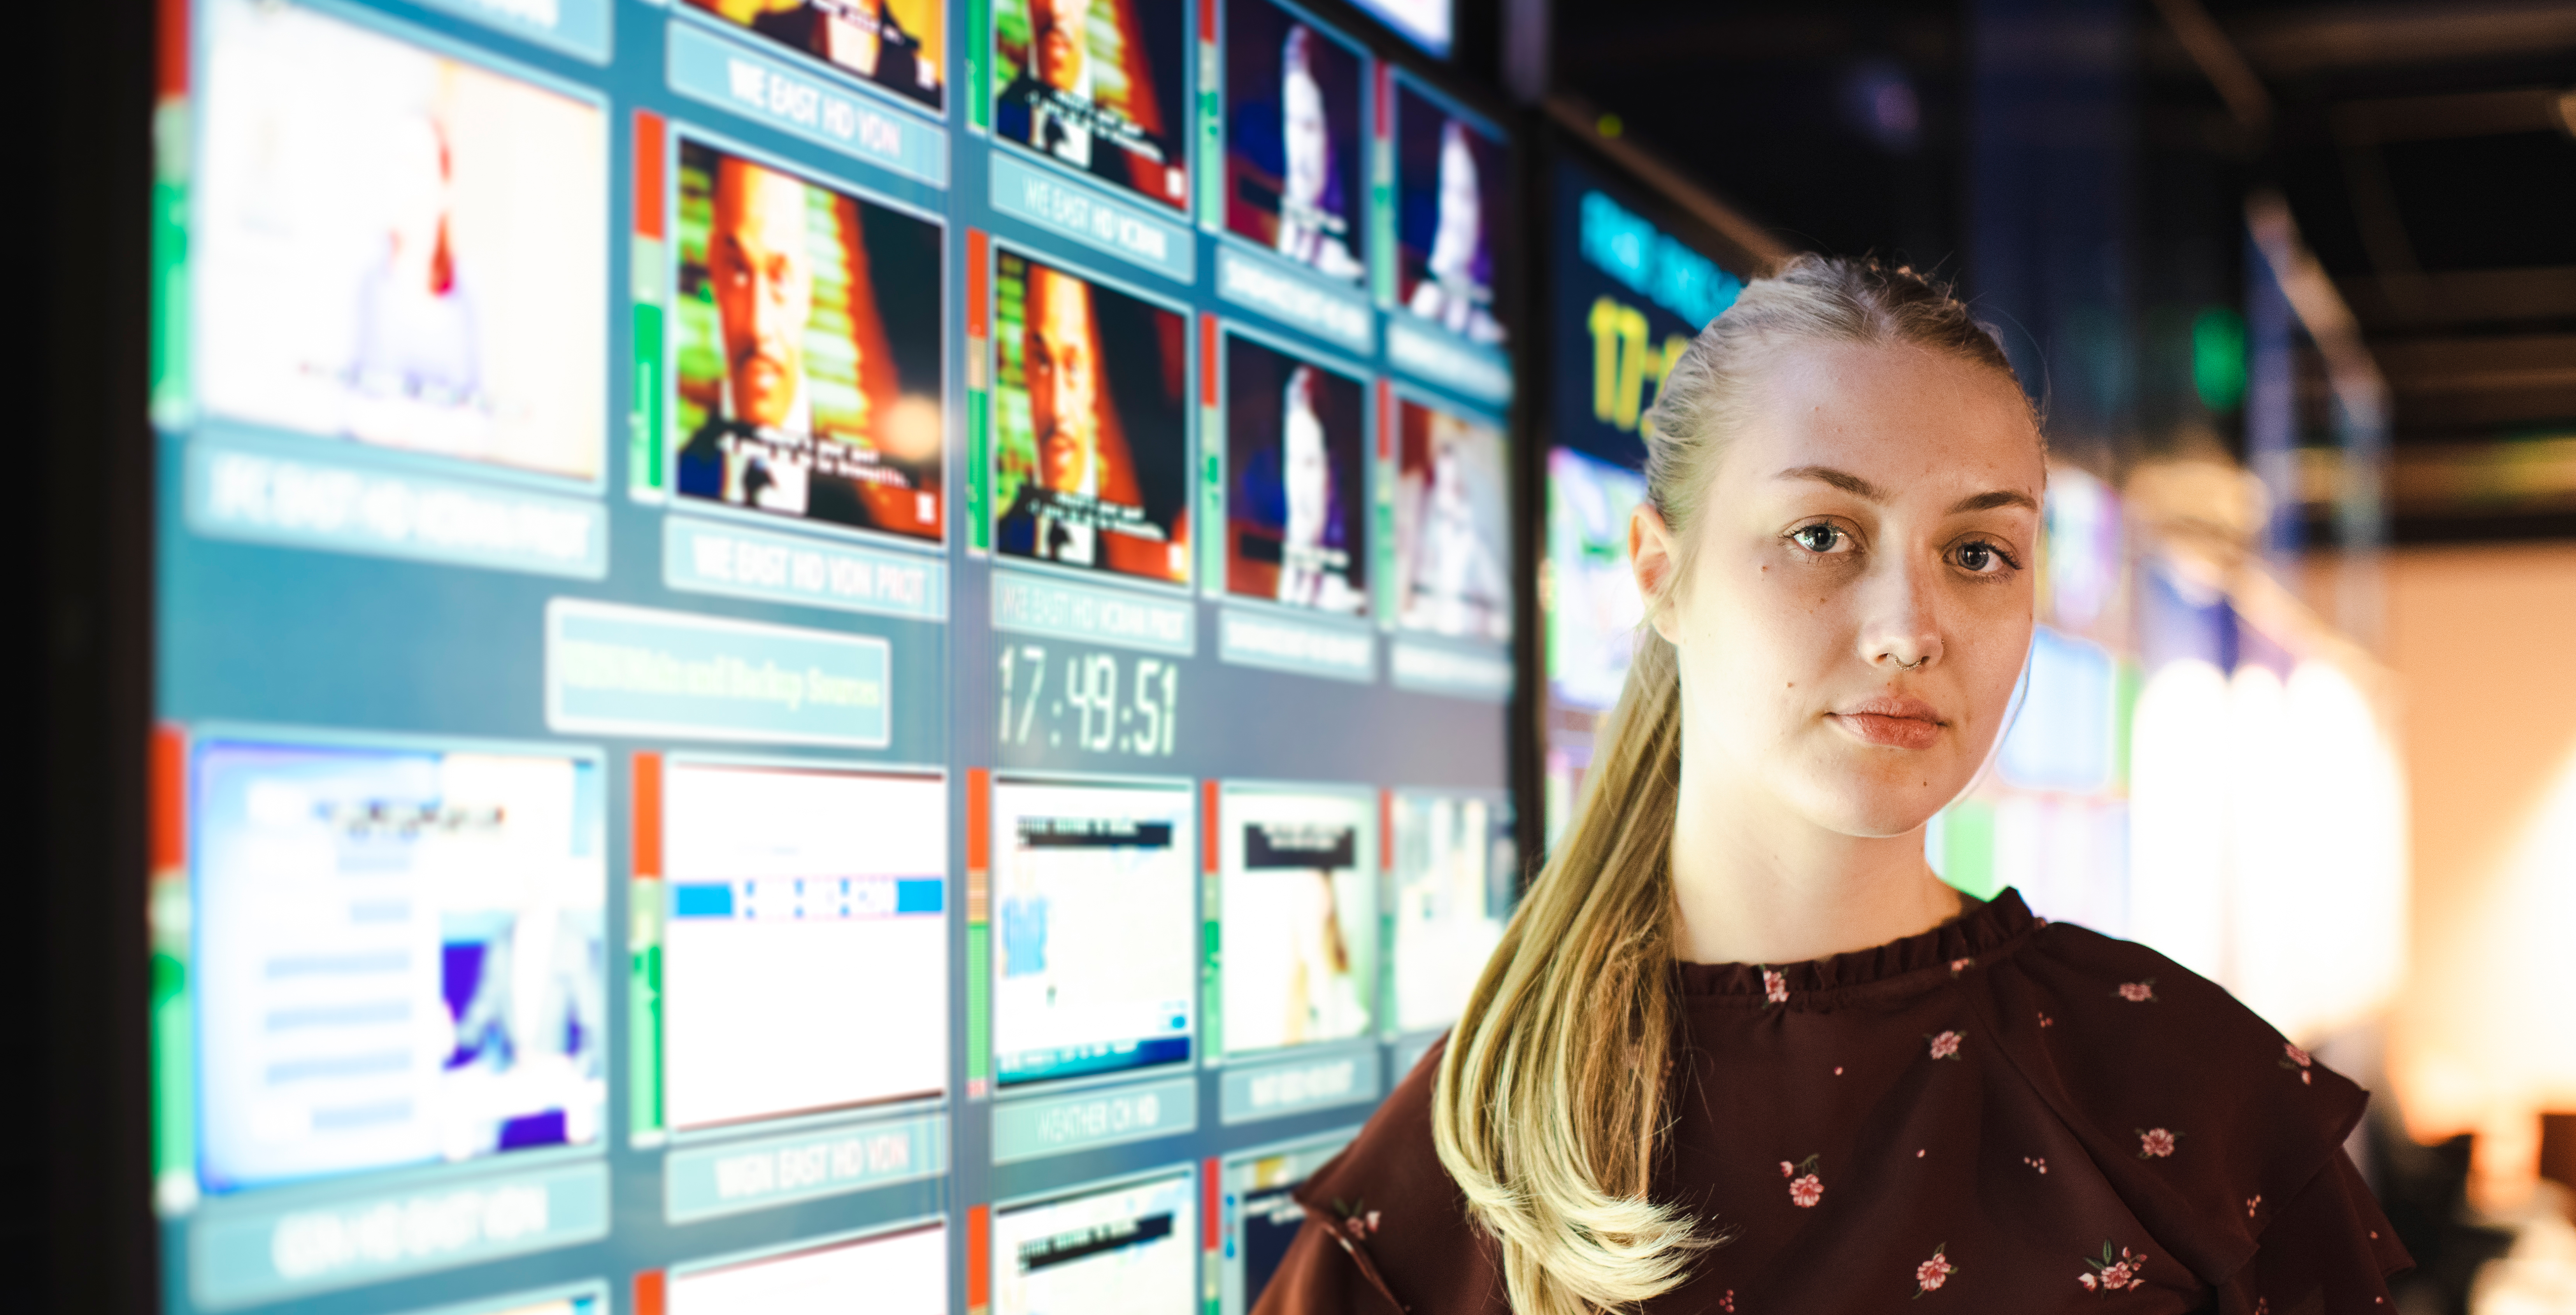
[[(1847, 836), (1922, 826), (2009, 715), (2043, 486), (2002, 373), (1901, 345), (1777, 347), (1654, 620), (1680, 651), (1685, 777)], [(1672, 535), (1643, 507), (1631, 535), (1651, 594)]]

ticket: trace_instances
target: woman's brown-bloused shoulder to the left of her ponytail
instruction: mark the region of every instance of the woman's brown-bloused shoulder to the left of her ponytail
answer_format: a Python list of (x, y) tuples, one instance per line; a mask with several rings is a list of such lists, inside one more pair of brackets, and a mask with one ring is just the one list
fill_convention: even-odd
[(1363, 1289), (1414, 1315), (1510, 1310), (1494, 1240), (1468, 1220), (1466, 1194), (1432, 1145), (1445, 1045), (1432, 1042), (1360, 1135), (1296, 1189), (1306, 1230), (1273, 1279), (1280, 1292), (1260, 1305), (1265, 1315), (1350, 1310), (1311, 1294)]

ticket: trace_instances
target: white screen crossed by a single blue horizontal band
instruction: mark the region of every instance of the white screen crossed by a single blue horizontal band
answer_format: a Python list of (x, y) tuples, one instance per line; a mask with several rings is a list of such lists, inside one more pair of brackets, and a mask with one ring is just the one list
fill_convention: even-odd
[(670, 1127), (948, 1083), (948, 785), (672, 762), (662, 785)]

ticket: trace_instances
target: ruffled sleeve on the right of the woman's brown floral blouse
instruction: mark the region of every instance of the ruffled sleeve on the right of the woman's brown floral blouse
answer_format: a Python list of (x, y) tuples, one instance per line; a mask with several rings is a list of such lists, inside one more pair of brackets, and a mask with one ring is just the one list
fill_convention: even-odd
[[(2215, 983), (2045, 926), (1984, 996), (2004, 1055), (2228, 1315), (2388, 1310), (2411, 1261), (2342, 1145), (2370, 1096)], [(2300, 1302), (2324, 1294), (2324, 1307)]]

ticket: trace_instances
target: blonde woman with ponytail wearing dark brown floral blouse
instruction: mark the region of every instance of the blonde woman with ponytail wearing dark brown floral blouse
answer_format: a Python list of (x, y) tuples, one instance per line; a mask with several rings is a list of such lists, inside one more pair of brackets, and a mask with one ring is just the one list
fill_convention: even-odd
[(1257, 1310), (2391, 1310), (2360, 1089), (1924, 865), (2032, 633), (2043, 440), (1994, 340), (1801, 257), (1651, 419), (1651, 633), (1582, 811)]

